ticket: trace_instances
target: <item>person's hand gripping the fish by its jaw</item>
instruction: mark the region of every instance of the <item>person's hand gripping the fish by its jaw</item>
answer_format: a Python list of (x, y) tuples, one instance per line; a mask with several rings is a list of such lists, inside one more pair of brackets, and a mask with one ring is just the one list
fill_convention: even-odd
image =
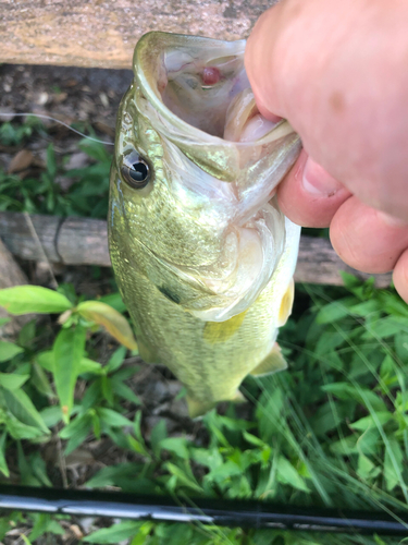
[(408, 302), (408, 2), (282, 0), (257, 22), (245, 63), (258, 107), (304, 150), (277, 197), (330, 226), (345, 263), (393, 270)]

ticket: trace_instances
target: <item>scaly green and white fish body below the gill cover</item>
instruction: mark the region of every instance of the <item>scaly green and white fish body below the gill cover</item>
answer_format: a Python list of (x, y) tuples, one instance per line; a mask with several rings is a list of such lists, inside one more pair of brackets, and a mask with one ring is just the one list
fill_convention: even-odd
[[(112, 261), (115, 252), (111, 251)], [(124, 302), (135, 323), (141, 358), (166, 365), (185, 385), (193, 412), (237, 399), (244, 378), (270, 353), (277, 329), (272, 283), (245, 313), (224, 323), (194, 317), (170, 301), (135, 269), (121, 274), (114, 264)], [(191, 411), (190, 411), (191, 412)]]

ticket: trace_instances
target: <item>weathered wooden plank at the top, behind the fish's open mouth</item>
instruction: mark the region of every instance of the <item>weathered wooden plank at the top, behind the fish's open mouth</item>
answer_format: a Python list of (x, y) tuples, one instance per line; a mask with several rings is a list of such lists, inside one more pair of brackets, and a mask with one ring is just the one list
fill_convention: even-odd
[(149, 31), (247, 37), (267, 0), (0, 0), (1, 62), (131, 68)]

